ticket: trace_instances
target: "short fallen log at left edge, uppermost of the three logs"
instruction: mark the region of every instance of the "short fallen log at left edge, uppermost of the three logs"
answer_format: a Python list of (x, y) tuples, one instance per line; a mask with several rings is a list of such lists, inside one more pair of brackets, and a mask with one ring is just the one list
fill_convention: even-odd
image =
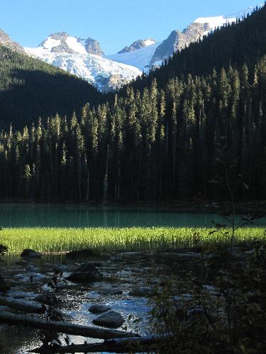
[(22, 312), (33, 312), (35, 314), (44, 314), (46, 310), (46, 307), (43, 304), (4, 296), (0, 296), (0, 305), (10, 307), (11, 309), (18, 309)]

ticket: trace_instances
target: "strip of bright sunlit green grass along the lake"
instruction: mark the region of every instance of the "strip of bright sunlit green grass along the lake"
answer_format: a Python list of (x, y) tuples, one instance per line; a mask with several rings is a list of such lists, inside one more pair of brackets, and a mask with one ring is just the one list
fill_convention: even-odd
[[(266, 239), (265, 228), (238, 229), (237, 241)], [(200, 244), (226, 242), (225, 236), (211, 234), (206, 228), (133, 227), (133, 228), (15, 228), (0, 232), (0, 244), (9, 246), (11, 253), (23, 249), (41, 252), (70, 251), (91, 248), (96, 251), (145, 251), (169, 247), (193, 246), (193, 235), (199, 232)]]

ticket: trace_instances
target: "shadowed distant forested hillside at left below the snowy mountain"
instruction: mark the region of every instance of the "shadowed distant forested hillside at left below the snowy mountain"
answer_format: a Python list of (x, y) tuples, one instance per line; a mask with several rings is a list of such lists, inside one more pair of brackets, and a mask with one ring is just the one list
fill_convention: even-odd
[(72, 115), (101, 94), (76, 76), (0, 45), (0, 128), (48, 115)]

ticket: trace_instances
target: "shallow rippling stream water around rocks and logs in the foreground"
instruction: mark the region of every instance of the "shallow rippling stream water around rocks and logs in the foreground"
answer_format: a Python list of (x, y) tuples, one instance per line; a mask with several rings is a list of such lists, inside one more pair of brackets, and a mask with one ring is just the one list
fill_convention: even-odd
[[(55, 292), (55, 295), (60, 298), (57, 309), (65, 315), (64, 321), (87, 326), (94, 326), (92, 320), (99, 316), (91, 314), (88, 311), (89, 306), (106, 304), (123, 316), (128, 331), (137, 331), (140, 335), (145, 335), (153, 331), (149, 322), (148, 297), (132, 296), (129, 295), (129, 292), (163, 284), (171, 273), (182, 274), (184, 272), (185, 284), (187, 269), (194, 267), (196, 270), (193, 257), (187, 258), (185, 255), (180, 255), (174, 258), (175, 260), (170, 258), (167, 260), (167, 258), (169, 258), (167, 253), (109, 254), (104, 258), (91, 260), (103, 273), (104, 281), (82, 285), (73, 282), (67, 282), (67, 284), (60, 282), (56, 290), (50, 289), (47, 285), (52, 277), (53, 269), (60, 268), (64, 272), (63, 277), (65, 277), (84, 260), (69, 261), (65, 256), (44, 256), (40, 260), (28, 260), (26, 263), (18, 265), (17, 263), (21, 262), (19, 256), (7, 256), (5, 263), (0, 267), (4, 271), (5, 278), (10, 279), (14, 285), (7, 293), (10, 297), (33, 299), (36, 295), (45, 292)], [(121, 294), (110, 295), (109, 292), (113, 290), (118, 290), (118, 292), (120, 290)], [(186, 291), (184, 286), (183, 292)], [(6, 308), (0, 307), (0, 311), (1, 309)], [(129, 322), (127, 321), (128, 316), (132, 316)], [(132, 325), (135, 318), (140, 319), (140, 322), (137, 325)], [(119, 329), (123, 329), (123, 326)], [(4, 346), (2, 353), (27, 353), (28, 350), (41, 344), (38, 330), (25, 329), (20, 326), (0, 326), (0, 330), (0, 342)], [(84, 343), (84, 340), (88, 343), (99, 342), (99, 340), (92, 338), (69, 337), (72, 343)]]

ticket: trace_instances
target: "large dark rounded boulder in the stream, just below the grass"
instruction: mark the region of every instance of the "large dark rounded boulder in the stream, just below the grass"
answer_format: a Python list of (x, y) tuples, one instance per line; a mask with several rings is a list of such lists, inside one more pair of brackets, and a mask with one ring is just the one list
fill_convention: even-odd
[(103, 275), (91, 263), (83, 263), (77, 270), (67, 277), (72, 282), (99, 282)]

